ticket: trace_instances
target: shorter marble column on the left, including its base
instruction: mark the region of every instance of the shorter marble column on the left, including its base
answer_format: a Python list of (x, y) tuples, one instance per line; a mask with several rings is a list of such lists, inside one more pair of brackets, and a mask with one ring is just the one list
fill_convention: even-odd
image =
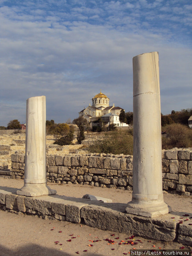
[(18, 195), (41, 196), (56, 194), (46, 184), (46, 99), (45, 96), (27, 99), (25, 179)]

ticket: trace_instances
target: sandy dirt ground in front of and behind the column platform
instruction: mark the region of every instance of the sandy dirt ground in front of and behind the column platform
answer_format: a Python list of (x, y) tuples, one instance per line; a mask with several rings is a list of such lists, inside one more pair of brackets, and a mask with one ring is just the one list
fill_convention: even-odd
[[(110, 198), (114, 203), (127, 203), (131, 200), (132, 193), (132, 191), (91, 187), (89, 185), (48, 185), (52, 189), (56, 189), (59, 195), (82, 197), (85, 194), (91, 194)], [(23, 180), (0, 178), (1, 189), (2, 187), (4, 187), (3, 189), (6, 189), (5, 187), (19, 189), (22, 186)], [(164, 193), (164, 200), (172, 207), (173, 211), (192, 213), (191, 196)], [(160, 247), (161, 249), (179, 249), (182, 246), (185, 249), (190, 248), (176, 242), (150, 241), (142, 237), (129, 238), (132, 235), (99, 230), (67, 221), (50, 221), (26, 214), (17, 215), (7, 211), (0, 211), (0, 255), (2, 256), (72, 256), (78, 254), (87, 256), (119, 256), (128, 254), (129, 250), (133, 248), (158, 249)], [(114, 243), (106, 241), (106, 238), (113, 240)], [(129, 240), (136, 244), (125, 245), (124, 243)]]

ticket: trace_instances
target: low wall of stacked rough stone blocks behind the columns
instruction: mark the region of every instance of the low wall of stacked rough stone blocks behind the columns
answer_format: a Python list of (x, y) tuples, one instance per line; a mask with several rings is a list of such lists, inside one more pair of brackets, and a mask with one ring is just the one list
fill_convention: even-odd
[[(132, 160), (131, 155), (49, 155), (46, 158), (47, 181), (131, 190)], [(12, 178), (24, 178), (25, 155), (12, 154), (11, 161)], [(191, 149), (162, 150), (162, 181), (164, 190), (191, 194)]]

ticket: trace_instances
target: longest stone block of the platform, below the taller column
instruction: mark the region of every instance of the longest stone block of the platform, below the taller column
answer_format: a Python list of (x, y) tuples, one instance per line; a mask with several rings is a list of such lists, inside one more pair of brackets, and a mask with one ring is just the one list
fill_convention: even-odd
[[(116, 206), (117, 207), (117, 206)], [(114, 232), (132, 234), (162, 241), (173, 241), (176, 223), (168, 219), (153, 219), (124, 214), (125, 204), (119, 204), (119, 209), (112, 210), (102, 206), (89, 205), (81, 209), (81, 217), (86, 225)], [(170, 218), (170, 217), (169, 217)]]

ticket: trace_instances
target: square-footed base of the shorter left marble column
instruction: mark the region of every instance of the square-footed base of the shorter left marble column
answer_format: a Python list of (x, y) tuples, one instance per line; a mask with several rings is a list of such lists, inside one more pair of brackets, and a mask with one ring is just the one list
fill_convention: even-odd
[(31, 184), (24, 183), (24, 186), (17, 190), (17, 194), (21, 196), (42, 196), (56, 194), (57, 191), (50, 189), (46, 183)]

